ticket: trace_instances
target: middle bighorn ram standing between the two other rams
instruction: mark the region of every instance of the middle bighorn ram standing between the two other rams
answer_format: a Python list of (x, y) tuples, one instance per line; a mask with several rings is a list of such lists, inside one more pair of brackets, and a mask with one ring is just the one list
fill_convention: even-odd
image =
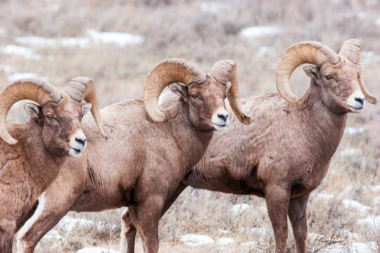
[[(170, 86), (179, 98), (158, 108), (158, 96), (173, 82), (186, 86)], [(215, 63), (205, 74), (186, 60), (167, 59), (148, 74), (144, 101), (126, 100), (101, 110), (107, 142), (91, 131), (95, 126), (85, 117), (89, 147), (79, 160), (69, 160), (46, 189), (29, 230), (18, 237), (18, 252), (32, 252), (70, 209), (94, 212), (123, 206), (129, 207), (146, 252), (158, 252), (163, 206), (201, 160), (213, 131), (226, 128), (226, 96), (236, 117), (249, 124), (240, 109), (232, 60)]]

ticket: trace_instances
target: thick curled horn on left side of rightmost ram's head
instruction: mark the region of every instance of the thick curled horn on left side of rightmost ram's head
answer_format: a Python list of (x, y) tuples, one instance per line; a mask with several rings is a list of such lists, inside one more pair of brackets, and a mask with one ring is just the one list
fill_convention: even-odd
[(317, 66), (326, 63), (336, 64), (340, 60), (329, 46), (317, 41), (303, 41), (290, 46), (284, 53), (276, 70), (276, 86), (282, 98), (289, 103), (297, 103), (299, 98), (291, 91), (291, 73), (303, 63)]

